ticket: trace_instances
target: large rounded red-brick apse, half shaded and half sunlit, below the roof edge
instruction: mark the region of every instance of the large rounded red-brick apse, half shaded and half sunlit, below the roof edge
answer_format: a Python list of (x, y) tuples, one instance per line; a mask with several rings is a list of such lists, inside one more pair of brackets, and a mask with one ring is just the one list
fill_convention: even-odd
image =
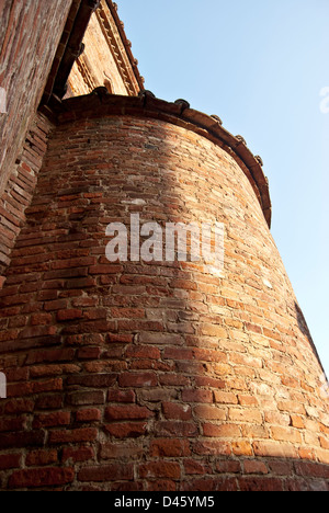
[[(259, 159), (181, 103), (57, 116), (1, 293), (2, 489), (328, 490), (326, 380)], [(109, 262), (132, 214), (223, 223), (223, 273)]]

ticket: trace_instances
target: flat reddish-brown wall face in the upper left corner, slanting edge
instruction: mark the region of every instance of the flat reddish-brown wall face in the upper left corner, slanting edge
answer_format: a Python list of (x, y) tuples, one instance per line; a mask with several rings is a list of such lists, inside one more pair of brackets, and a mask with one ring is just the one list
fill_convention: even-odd
[(12, 174), (50, 71), (71, 0), (4, 0), (0, 4), (0, 195)]

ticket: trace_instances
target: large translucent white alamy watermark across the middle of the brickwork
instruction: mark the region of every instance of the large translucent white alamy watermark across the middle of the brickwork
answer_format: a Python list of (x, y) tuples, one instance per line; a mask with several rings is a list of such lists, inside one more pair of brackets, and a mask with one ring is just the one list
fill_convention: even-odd
[[(211, 265), (209, 271), (224, 269), (224, 225), (222, 223), (158, 223), (140, 225), (139, 214), (131, 215), (129, 229), (123, 223), (111, 223), (106, 236), (110, 262), (200, 262)], [(128, 236), (129, 233), (129, 236)], [(128, 251), (129, 247), (129, 251)]]

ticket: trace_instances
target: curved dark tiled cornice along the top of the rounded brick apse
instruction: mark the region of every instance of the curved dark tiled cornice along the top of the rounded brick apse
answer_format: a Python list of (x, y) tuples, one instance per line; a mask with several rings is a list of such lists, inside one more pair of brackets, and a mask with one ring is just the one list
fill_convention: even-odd
[(138, 96), (121, 96), (109, 94), (106, 88), (98, 88), (91, 94), (63, 102), (53, 99), (53, 103), (44, 109), (44, 113), (59, 124), (84, 117), (114, 115), (151, 117), (181, 126), (212, 140), (238, 162), (251, 183), (265, 220), (271, 227), (269, 181), (262, 169), (262, 160), (253, 156), (241, 136), (234, 136), (226, 130), (218, 116), (208, 116), (195, 111), (184, 100), (170, 103), (157, 99), (149, 91), (141, 91)]

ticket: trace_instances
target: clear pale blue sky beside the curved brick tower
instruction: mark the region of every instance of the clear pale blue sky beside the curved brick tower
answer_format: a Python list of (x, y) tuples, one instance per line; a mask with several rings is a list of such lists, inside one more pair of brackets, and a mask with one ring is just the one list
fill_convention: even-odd
[(272, 233), (329, 375), (329, 1), (117, 3), (146, 89), (219, 115), (263, 158)]

